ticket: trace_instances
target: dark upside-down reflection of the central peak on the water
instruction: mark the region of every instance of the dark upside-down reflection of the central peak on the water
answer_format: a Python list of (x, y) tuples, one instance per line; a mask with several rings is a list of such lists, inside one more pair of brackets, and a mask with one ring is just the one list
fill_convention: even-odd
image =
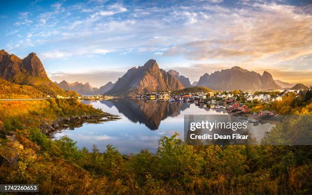
[(100, 101), (109, 107), (115, 106), (119, 113), (134, 123), (145, 124), (150, 130), (158, 129), (167, 117), (176, 117), (190, 107), (187, 103), (153, 102), (140, 99), (113, 99)]

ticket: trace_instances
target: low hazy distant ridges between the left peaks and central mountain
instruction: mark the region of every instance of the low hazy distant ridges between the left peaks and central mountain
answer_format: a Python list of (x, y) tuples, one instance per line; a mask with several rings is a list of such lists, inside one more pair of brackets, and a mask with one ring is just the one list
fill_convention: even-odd
[(71, 90), (81, 95), (101, 95), (114, 87), (114, 84), (112, 82), (108, 82), (105, 86), (102, 86), (100, 88), (94, 88), (90, 86), (89, 82), (86, 82), (85, 84), (83, 84), (82, 82), (69, 83), (63, 80), (60, 83), (55, 83), (64, 90)]

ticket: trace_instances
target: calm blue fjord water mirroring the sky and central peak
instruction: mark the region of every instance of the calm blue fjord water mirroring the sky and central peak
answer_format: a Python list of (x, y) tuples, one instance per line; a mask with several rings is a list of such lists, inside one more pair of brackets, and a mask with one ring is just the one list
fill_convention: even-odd
[[(184, 115), (227, 115), (225, 110), (200, 108), (189, 103), (152, 102), (120, 98), (110, 101), (84, 101), (83, 103), (101, 108), (103, 111), (118, 115), (120, 120), (100, 124), (83, 124), (73, 130), (57, 132), (55, 138), (67, 135), (77, 142), (79, 148), (89, 150), (95, 144), (101, 151), (107, 145), (118, 148), (122, 154), (138, 153), (142, 149), (155, 152), (161, 136), (174, 132), (184, 138)], [(263, 131), (255, 131), (263, 137)]]

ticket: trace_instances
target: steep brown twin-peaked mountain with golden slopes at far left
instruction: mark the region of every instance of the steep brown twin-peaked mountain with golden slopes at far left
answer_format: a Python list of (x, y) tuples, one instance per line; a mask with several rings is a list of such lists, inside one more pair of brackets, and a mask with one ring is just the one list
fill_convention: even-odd
[(76, 95), (59, 88), (47, 77), (36, 53), (30, 53), (26, 58), (20, 59), (4, 49), (0, 50), (0, 78), (18, 85), (32, 86), (50, 96)]

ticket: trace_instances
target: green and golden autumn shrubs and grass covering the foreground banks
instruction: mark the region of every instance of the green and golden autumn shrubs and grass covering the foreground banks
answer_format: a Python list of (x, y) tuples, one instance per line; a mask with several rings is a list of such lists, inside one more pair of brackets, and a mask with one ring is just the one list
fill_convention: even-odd
[[(272, 106), (283, 114), (310, 115), (312, 102), (306, 97), (290, 95)], [(43, 194), (312, 193), (311, 146), (195, 147), (181, 142), (175, 134), (162, 137), (155, 154), (142, 150), (125, 156), (110, 145), (103, 153), (96, 146), (88, 151), (78, 149), (66, 136), (50, 140), (38, 128), (39, 121), (101, 111), (74, 100), (58, 101), (38, 102), (21, 112), (14, 105), (0, 105), (6, 112), (0, 120), (7, 135), (1, 140), (0, 183), (40, 184)], [(312, 121), (300, 115), (284, 124), (289, 127), (284, 133), (294, 129), (297, 135), (310, 133), (310, 129), (300, 127), (303, 122), (311, 126)], [(277, 126), (273, 136), (280, 131)], [(270, 142), (270, 134), (266, 141)]]

